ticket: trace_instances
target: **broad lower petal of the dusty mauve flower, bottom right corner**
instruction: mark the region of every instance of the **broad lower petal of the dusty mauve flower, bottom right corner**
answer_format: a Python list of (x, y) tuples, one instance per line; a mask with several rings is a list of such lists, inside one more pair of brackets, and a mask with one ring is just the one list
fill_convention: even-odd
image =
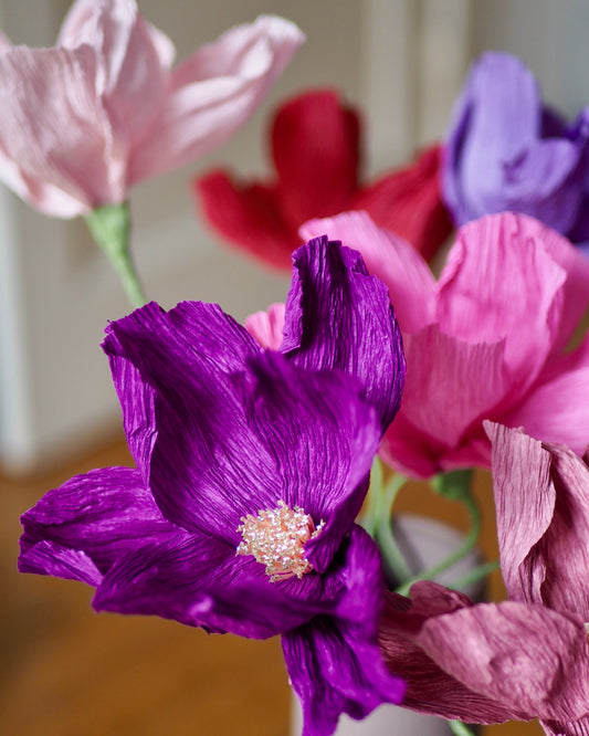
[(589, 644), (582, 621), (572, 616), (512, 601), (478, 603), (429, 619), (416, 641), (450, 675), (507, 713), (558, 721), (587, 714)]

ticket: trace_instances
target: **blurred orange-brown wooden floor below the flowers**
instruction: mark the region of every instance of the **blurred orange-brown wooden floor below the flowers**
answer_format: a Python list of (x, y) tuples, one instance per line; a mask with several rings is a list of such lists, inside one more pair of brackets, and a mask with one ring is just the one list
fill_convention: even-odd
[[(96, 614), (86, 586), (17, 572), (20, 514), (67, 477), (117, 464), (130, 464), (120, 441), (34, 479), (0, 476), (0, 735), (287, 736), (278, 640), (208, 637), (155, 618)], [(487, 512), (483, 543), (493, 554), (490, 485), (482, 474), (477, 483)], [(461, 525), (453, 506), (421, 486), (400, 504)], [(498, 577), (492, 592), (503, 595)], [(484, 734), (541, 729), (507, 724)]]

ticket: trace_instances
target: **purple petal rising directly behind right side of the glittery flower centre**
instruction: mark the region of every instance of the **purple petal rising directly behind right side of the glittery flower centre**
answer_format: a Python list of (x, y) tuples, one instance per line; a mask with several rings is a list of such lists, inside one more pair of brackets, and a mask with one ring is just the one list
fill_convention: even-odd
[(324, 522), (306, 547), (307, 559), (324, 572), (368, 490), (380, 440), (377, 417), (359, 398), (358, 382), (344, 374), (311, 374), (275, 353), (250, 368), (254, 380), (243, 392), (248, 424), (276, 462), (266, 507), (281, 500), (301, 506), (315, 526)]

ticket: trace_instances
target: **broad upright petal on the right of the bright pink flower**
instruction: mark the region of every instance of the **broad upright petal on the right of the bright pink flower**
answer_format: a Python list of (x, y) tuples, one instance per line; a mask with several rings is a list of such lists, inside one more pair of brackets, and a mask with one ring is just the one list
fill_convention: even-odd
[(439, 282), (441, 329), (473, 343), (505, 339), (505, 365), (519, 395), (561, 329), (567, 273), (544, 248), (546, 232), (513, 213), (471, 222), (459, 231)]

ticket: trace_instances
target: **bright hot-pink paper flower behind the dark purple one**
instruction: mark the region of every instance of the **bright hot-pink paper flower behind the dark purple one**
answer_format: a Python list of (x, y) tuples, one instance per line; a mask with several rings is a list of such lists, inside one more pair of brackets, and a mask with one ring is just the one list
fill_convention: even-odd
[(523, 425), (578, 454), (589, 443), (589, 338), (566, 346), (589, 303), (589, 263), (524, 214), (492, 214), (457, 233), (440, 280), (366, 213), (302, 228), (358, 250), (381, 278), (403, 335), (407, 381), (382, 458), (428, 477), (491, 463), (483, 419)]

